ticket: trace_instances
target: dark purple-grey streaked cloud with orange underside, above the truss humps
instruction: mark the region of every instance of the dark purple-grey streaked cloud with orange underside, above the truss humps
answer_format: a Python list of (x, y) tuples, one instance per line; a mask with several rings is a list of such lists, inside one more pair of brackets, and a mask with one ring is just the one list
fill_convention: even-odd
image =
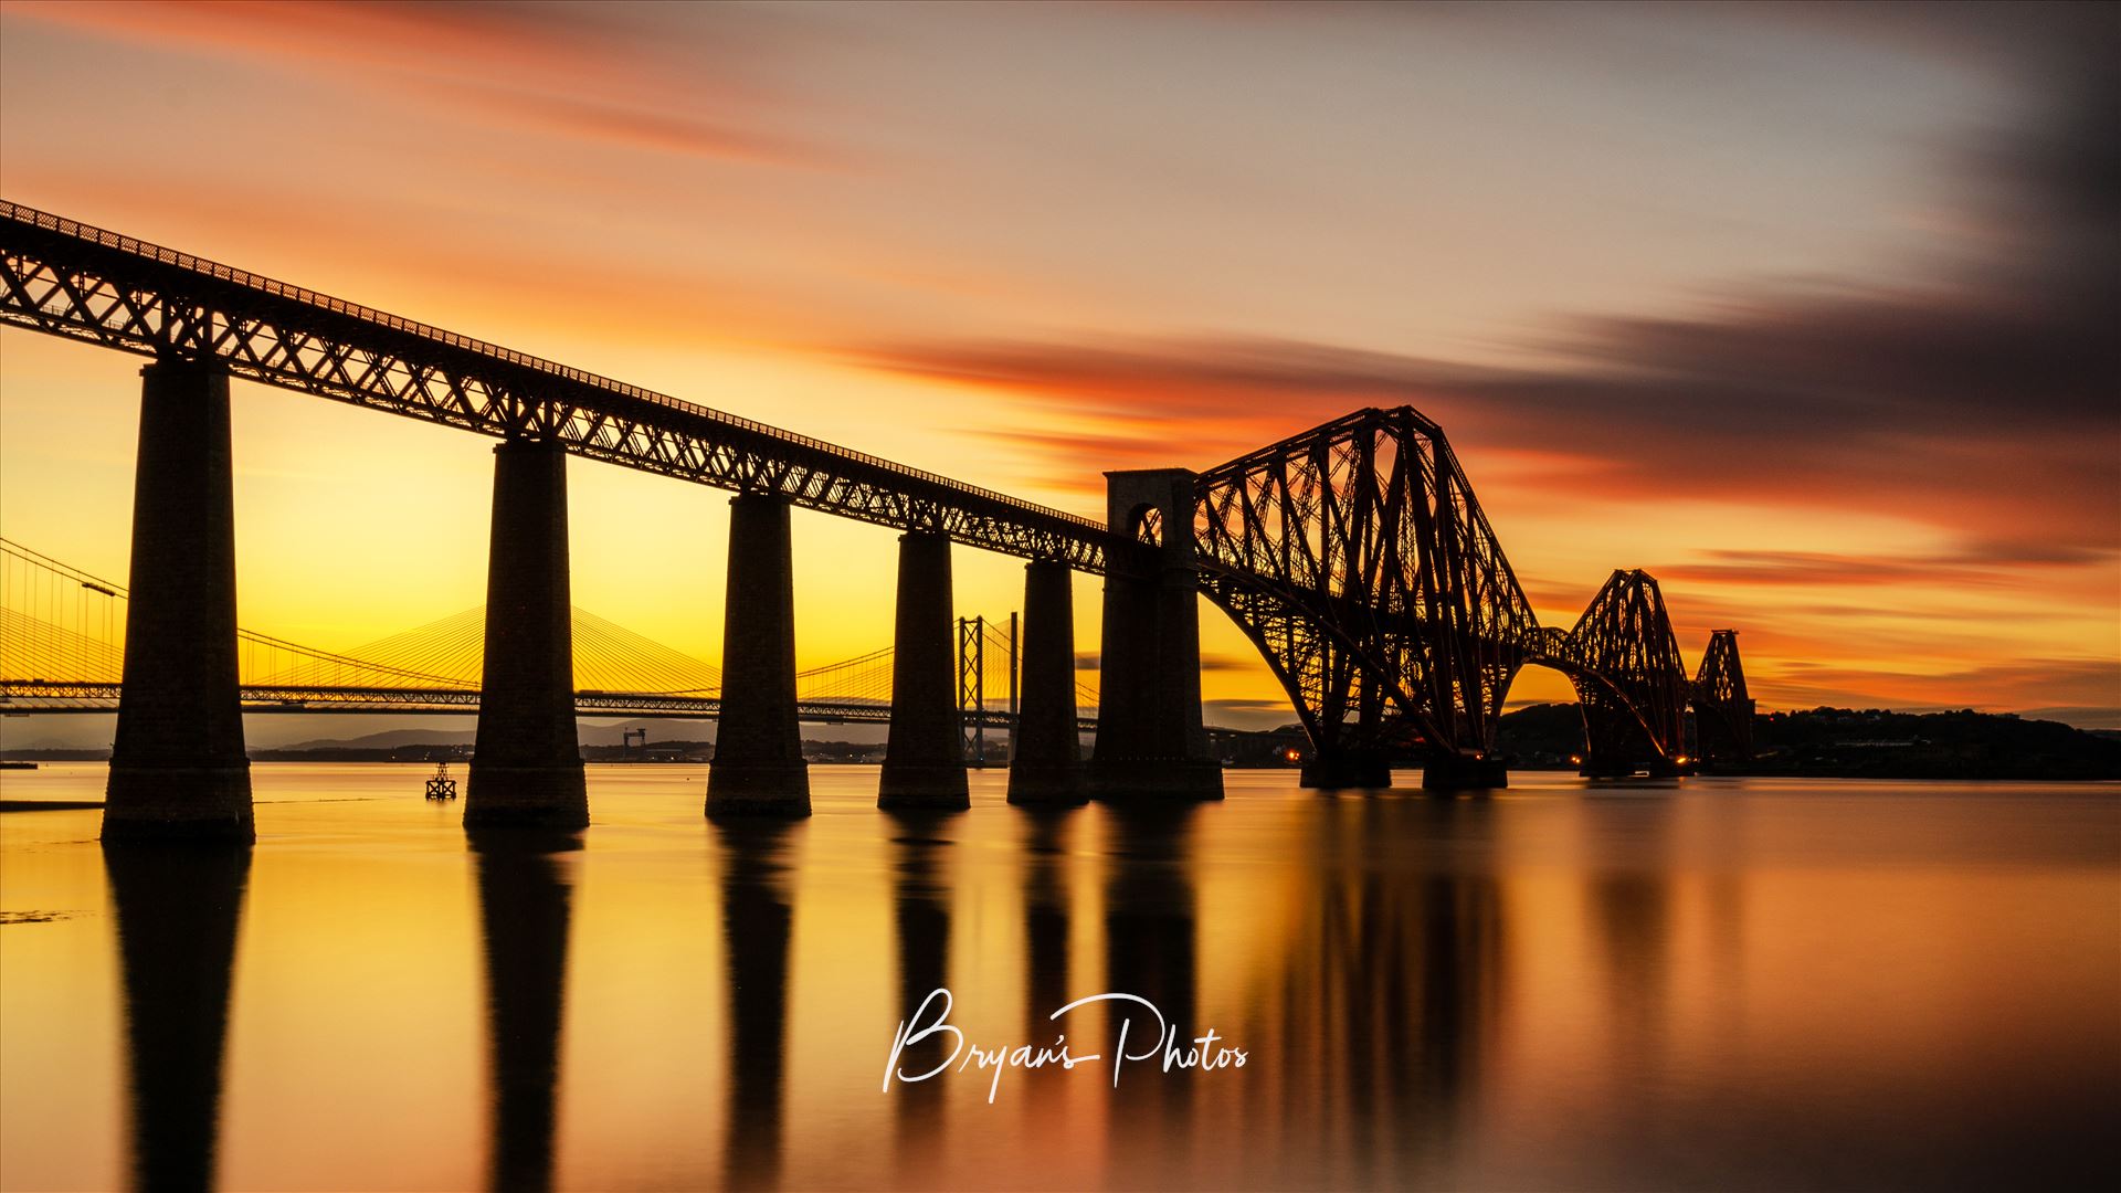
[[(1555, 495), (1890, 514), (1968, 550), (2087, 563), (2121, 543), (2115, 79), (2093, 70), (2043, 123), (1958, 157), (1994, 255), (1928, 284), (1739, 287), (1707, 314), (1580, 318), (1527, 344), (1561, 363), (1523, 369), (1260, 335), (848, 355), (1014, 395), (1022, 425), (993, 433), (1044, 461), (1050, 484), (1209, 467), (1351, 408), (1408, 403), (1461, 446), (1544, 461), (1523, 480)], [(1794, 575), (1788, 563), (1773, 571)]]

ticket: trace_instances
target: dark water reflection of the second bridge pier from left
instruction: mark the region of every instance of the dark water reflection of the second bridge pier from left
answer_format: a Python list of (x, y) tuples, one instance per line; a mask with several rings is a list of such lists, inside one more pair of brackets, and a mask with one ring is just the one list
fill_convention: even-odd
[(492, 1072), (488, 1189), (551, 1189), (573, 883), (568, 832), (473, 832)]

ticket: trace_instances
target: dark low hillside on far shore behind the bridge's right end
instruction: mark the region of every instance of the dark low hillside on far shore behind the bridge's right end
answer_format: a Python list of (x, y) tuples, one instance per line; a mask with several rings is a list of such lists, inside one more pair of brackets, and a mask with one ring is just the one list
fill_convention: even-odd
[[(2121, 779), (2121, 741), (2062, 722), (2011, 713), (1894, 713), (1809, 709), (1763, 713), (1752, 724), (1748, 775), (1873, 779)], [(1506, 713), (1495, 751), (1519, 768), (1570, 766), (1582, 751), (1576, 705)]]

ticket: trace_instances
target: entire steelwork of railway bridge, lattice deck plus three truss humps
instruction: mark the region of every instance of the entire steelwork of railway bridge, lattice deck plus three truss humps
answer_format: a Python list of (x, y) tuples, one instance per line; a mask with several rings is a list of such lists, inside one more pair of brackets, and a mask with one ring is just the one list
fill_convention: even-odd
[[(942, 531), (1080, 571), (1154, 571), (1154, 548), (1088, 518), (4, 200), (0, 325), (216, 361), (282, 388), (484, 435), (560, 439), (581, 456), (783, 492), (806, 509)], [(1703, 709), (1705, 743), (1739, 756), (1750, 745), (1735, 637), (1720, 630), (1688, 684), (1663, 596), (1642, 571), (1614, 573), (1574, 633), (1542, 628), (1442, 429), (1413, 408), (1360, 410), (1200, 473), (1192, 531), (1200, 590), (1266, 656), (1321, 756), (1410, 747), (1483, 756), (1525, 662), (1572, 675), (1593, 754), (1633, 749), (1669, 762), (1684, 741), (1688, 696)], [(98, 701), (115, 696), (108, 688), (4, 696)], [(579, 692), (577, 703), (704, 709), (687, 696), (649, 696)], [(286, 707), (331, 694), (246, 688), (244, 698)], [(367, 698), (467, 707), (475, 696), (375, 688)], [(867, 709), (814, 711), (855, 720)], [(1716, 739), (1722, 728), (1712, 722), (1729, 734)], [(1614, 745), (1623, 739), (1633, 745)]]

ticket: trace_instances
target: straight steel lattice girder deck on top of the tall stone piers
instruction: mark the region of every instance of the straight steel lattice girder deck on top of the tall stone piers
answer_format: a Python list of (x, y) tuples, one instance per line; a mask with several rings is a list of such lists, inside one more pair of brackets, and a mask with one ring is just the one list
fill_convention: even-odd
[[(1105, 571), (1099, 522), (0, 200), (0, 323), (1027, 558)], [(1124, 550), (1124, 548), (1122, 548)]]

